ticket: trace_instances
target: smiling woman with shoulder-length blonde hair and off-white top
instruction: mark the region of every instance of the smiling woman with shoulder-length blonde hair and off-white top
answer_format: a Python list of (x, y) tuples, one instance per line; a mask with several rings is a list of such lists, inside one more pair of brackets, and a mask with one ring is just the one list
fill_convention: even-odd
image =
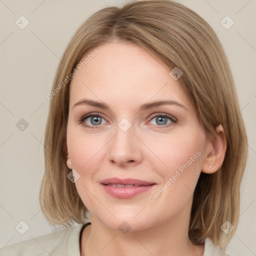
[(47, 97), (40, 203), (51, 224), (80, 224), (1, 255), (227, 255), (247, 138), (205, 20), (169, 0), (99, 10)]

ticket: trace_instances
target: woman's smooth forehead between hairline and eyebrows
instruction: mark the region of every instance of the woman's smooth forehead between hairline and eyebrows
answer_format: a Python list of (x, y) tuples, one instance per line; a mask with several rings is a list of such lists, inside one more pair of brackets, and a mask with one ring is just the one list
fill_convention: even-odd
[[(88, 51), (86, 64), (70, 83), (70, 105), (82, 97), (103, 100), (108, 104), (126, 105), (134, 101), (177, 100), (190, 105), (178, 80), (170, 69), (144, 48), (127, 42), (111, 42)], [(88, 56), (89, 55), (89, 56)], [(93, 57), (92, 57), (93, 56)]]

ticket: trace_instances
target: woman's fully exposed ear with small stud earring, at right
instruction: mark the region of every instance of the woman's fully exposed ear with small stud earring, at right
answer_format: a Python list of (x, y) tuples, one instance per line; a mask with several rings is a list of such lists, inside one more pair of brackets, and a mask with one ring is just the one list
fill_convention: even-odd
[(225, 132), (222, 125), (219, 124), (216, 128), (216, 135), (205, 146), (206, 157), (203, 160), (201, 171), (204, 173), (217, 171), (223, 163), (226, 147)]

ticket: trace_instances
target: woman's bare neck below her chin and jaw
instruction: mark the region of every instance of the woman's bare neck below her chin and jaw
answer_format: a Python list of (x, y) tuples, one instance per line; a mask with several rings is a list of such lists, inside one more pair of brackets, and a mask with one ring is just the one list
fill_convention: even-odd
[(149, 227), (122, 233), (91, 215), (91, 225), (81, 237), (81, 255), (202, 256), (204, 245), (193, 245), (188, 237), (189, 216), (177, 216)]

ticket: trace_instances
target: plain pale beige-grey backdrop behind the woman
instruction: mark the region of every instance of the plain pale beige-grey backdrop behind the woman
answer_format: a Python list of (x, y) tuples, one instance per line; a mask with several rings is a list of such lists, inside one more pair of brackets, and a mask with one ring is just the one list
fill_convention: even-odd
[[(249, 151), (241, 184), (239, 224), (227, 252), (233, 256), (256, 255), (256, 1), (177, 1), (195, 10), (212, 26), (228, 56)], [(122, 2), (0, 0), (0, 247), (53, 231), (38, 200), (49, 106), (46, 94), (64, 48), (78, 26), (96, 10)], [(29, 21), (24, 29), (15, 23), (21, 23), (21, 15)], [(234, 21), (229, 29), (221, 24), (226, 15)], [(228, 19), (222, 22), (230, 25)], [(15, 228), (20, 221), (29, 226), (24, 234)]]

